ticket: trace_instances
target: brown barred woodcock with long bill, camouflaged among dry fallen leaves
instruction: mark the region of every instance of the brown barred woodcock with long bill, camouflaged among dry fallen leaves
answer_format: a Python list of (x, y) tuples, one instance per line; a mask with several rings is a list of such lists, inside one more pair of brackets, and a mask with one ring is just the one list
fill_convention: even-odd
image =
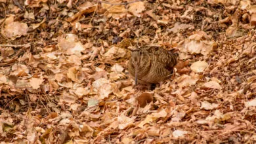
[(128, 71), (135, 84), (156, 84), (171, 76), (176, 63), (177, 54), (158, 46), (148, 46), (133, 50)]

